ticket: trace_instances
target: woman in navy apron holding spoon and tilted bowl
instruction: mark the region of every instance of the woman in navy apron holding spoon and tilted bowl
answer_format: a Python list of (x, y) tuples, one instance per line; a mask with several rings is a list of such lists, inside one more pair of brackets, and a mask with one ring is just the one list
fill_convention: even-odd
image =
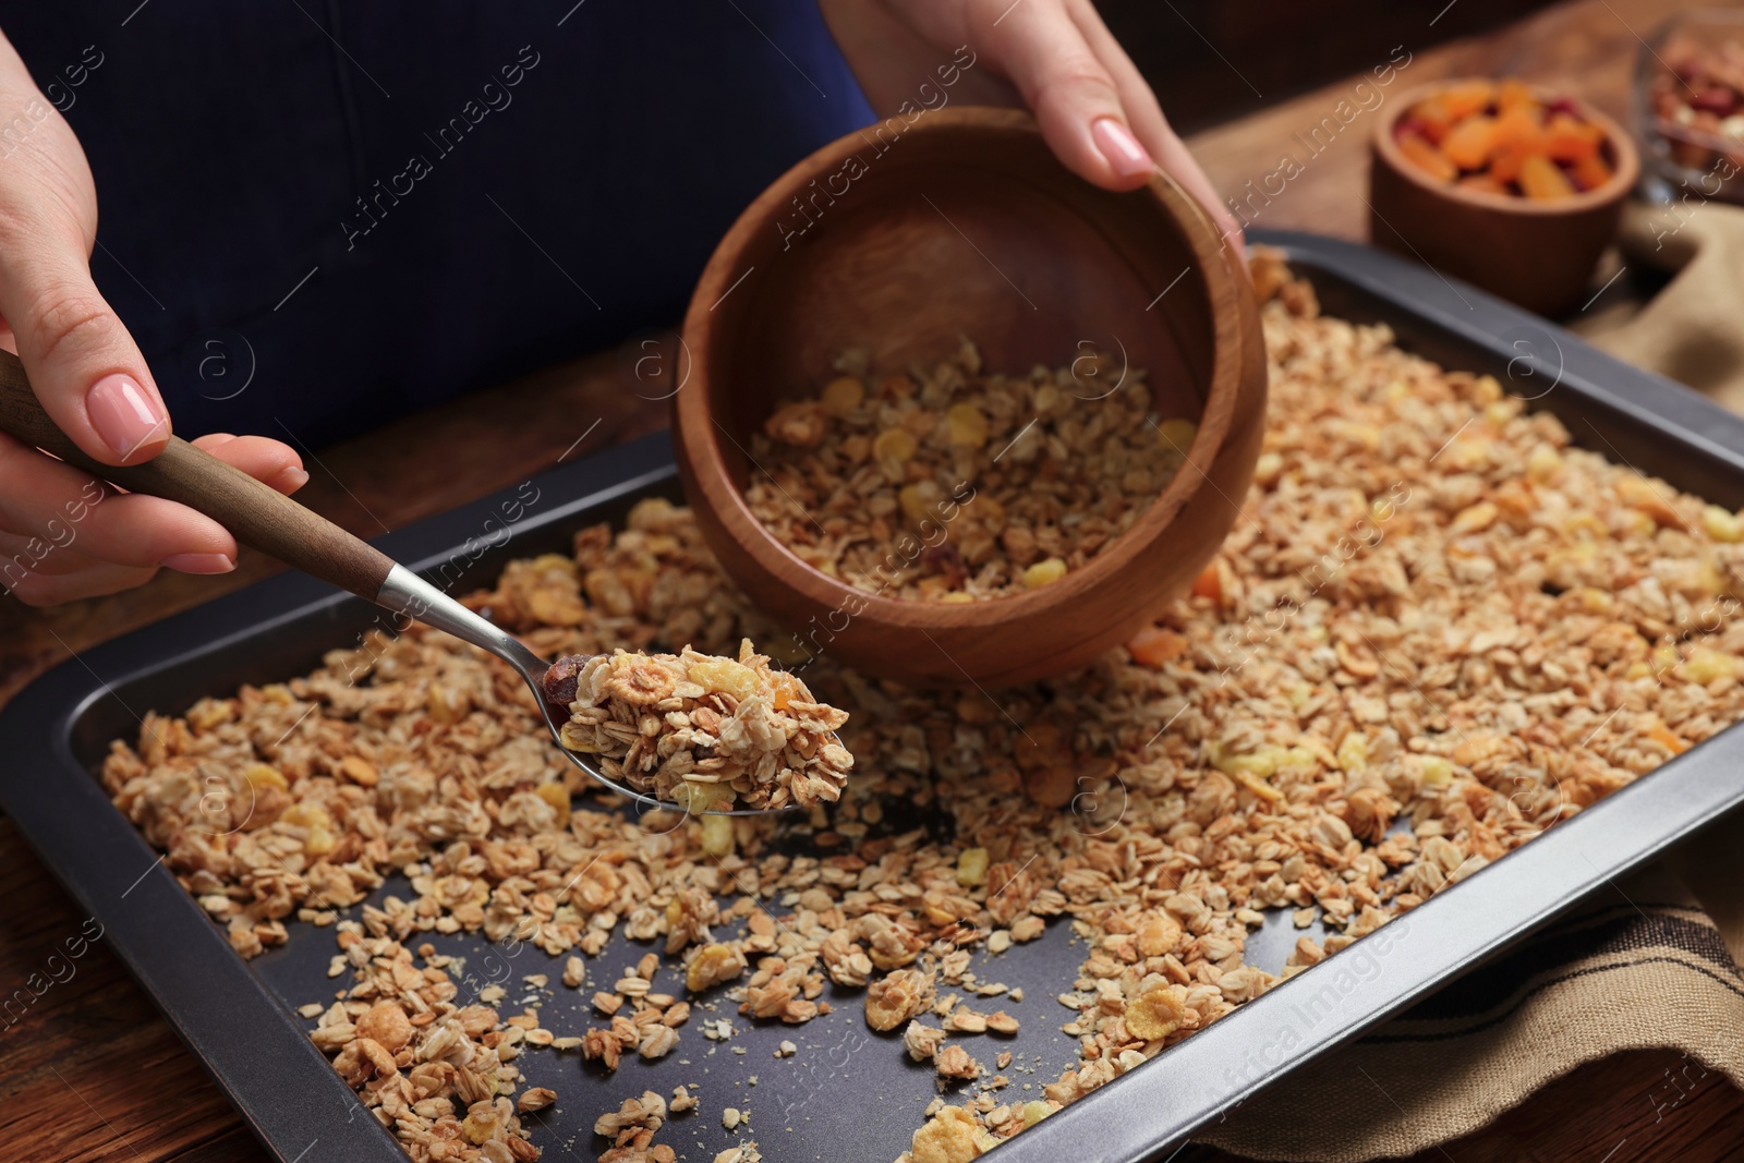
[[(762, 187), (916, 98), (1027, 105), (1087, 180), (1162, 164), (1238, 234), (1090, 0), (120, 0), (0, 28), (0, 343), (105, 464), (174, 415), (295, 492), (298, 448), (678, 317)], [(0, 436), (26, 603), (235, 551)]]

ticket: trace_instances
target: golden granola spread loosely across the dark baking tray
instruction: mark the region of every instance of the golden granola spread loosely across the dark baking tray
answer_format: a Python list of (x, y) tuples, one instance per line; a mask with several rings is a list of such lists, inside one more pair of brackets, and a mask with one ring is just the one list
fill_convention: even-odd
[[(910, 1151), (975, 1158), (1270, 989), (1245, 957), (1263, 910), (1331, 931), (1305, 935), (1284, 976), (1385, 940), (1446, 884), (1744, 717), (1737, 513), (1575, 448), (1491, 377), (1320, 316), (1277, 262), (1254, 275), (1271, 427), (1195, 591), (1127, 649), (998, 704), (816, 661), (807, 687), (855, 710), (841, 729), (855, 778), (832, 804), (635, 821), (572, 799), (584, 776), (539, 738), (525, 684), (419, 626), (303, 678), (146, 715), (105, 786), (242, 956), (283, 943), (293, 919), (333, 928), (331, 973), (361, 992), (324, 1006), (312, 1036), (378, 1118), (392, 1104), (419, 1163), (436, 1142), (460, 1160), (532, 1147), (499, 1100), (518, 1085), (504, 1046), (537, 1046), (539, 1029), (483, 990), (436, 1032), (420, 1025), (419, 1006), (460, 1001), (443, 996), (441, 959), (403, 952), (424, 933), (525, 942), (553, 973), (614, 933), (657, 942), (657, 982), (640, 964), (565, 973), (609, 1018), (577, 1048), (614, 1064), (649, 1025), (689, 1037), (698, 1024), (666, 1017), (691, 1001), (739, 1006), (699, 1024), (719, 1041), (738, 1020), (806, 1022), (830, 985), (863, 989), (882, 1022), (921, 982), (931, 999), (865, 1053), (933, 1060), (964, 997), (1005, 992), (975, 976), (973, 949), (1081, 938), (1076, 976), (1031, 983), (1025, 1003), (1060, 1003), (1073, 1069), (1003, 1105), (998, 1078), (952, 1083), (980, 1093), (930, 1109)], [(659, 499), (469, 603), (548, 657), (769, 635)], [(898, 830), (909, 806), (938, 826)], [(371, 896), (394, 874), (412, 900)], [(680, 975), (685, 996), (661, 994)], [(389, 1001), (413, 1029), (399, 1050)], [(535, 1051), (574, 1030), (556, 1034)], [(438, 1036), (453, 1041), (433, 1062), (469, 1055), (501, 1085), (473, 1119), (481, 1144), (457, 1130), (478, 1105), (471, 1076), (398, 1062)], [(403, 1088), (438, 1072), (452, 1093)], [(607, 1114), (607, 1151), (666, 1151), (640, 1135), (652, 1109)]]

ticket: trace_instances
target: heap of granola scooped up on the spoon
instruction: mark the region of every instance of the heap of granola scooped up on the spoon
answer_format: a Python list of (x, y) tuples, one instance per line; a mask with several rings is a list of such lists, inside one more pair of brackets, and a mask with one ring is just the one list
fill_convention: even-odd
[(739, 643), (738, 661), (698, 654), (572, 654), (544, 697), (570, 711), (563, 746), (605, 774), (692, 813), (811, 807), (842, 793), (853, 755), (835, 738), (848, 711)]

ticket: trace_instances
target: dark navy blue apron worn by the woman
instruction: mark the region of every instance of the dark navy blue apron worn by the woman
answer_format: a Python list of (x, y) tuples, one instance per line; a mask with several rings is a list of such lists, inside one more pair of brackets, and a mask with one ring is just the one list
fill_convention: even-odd
[(84, 145), (92, 275), (181, 436), (319, 448), (673, 324), (732, 218), (874, 119), (807, 0), (33, 0), (0, 30)]

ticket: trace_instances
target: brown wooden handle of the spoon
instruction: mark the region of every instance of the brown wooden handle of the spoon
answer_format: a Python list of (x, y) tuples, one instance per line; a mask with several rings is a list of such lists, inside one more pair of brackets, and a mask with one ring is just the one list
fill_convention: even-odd
[(246, 546), (375, 602), (394, 560), (310, 513), (270, 485), (180, 436), (141, 464), (92, 460), (42, 410), (17, 356), (0, 350), (0, 429), (127, 492), (180, 500), (230, 530)]

